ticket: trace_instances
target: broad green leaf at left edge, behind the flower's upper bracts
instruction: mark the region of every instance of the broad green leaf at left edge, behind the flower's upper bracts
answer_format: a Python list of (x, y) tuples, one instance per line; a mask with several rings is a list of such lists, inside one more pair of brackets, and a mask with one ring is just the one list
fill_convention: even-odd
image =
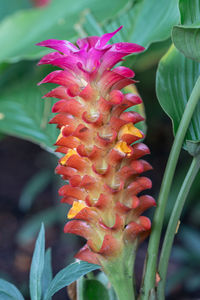
[(39, 144), (53, 152), (58, 136), (56, 126), (48, 124), (55, 100), (42, 99), (46, 87), (38, 88), (41, 79), (34, 72), (21, 78), (12, 86), (7, 85), (0, 95), (0, 131)]

